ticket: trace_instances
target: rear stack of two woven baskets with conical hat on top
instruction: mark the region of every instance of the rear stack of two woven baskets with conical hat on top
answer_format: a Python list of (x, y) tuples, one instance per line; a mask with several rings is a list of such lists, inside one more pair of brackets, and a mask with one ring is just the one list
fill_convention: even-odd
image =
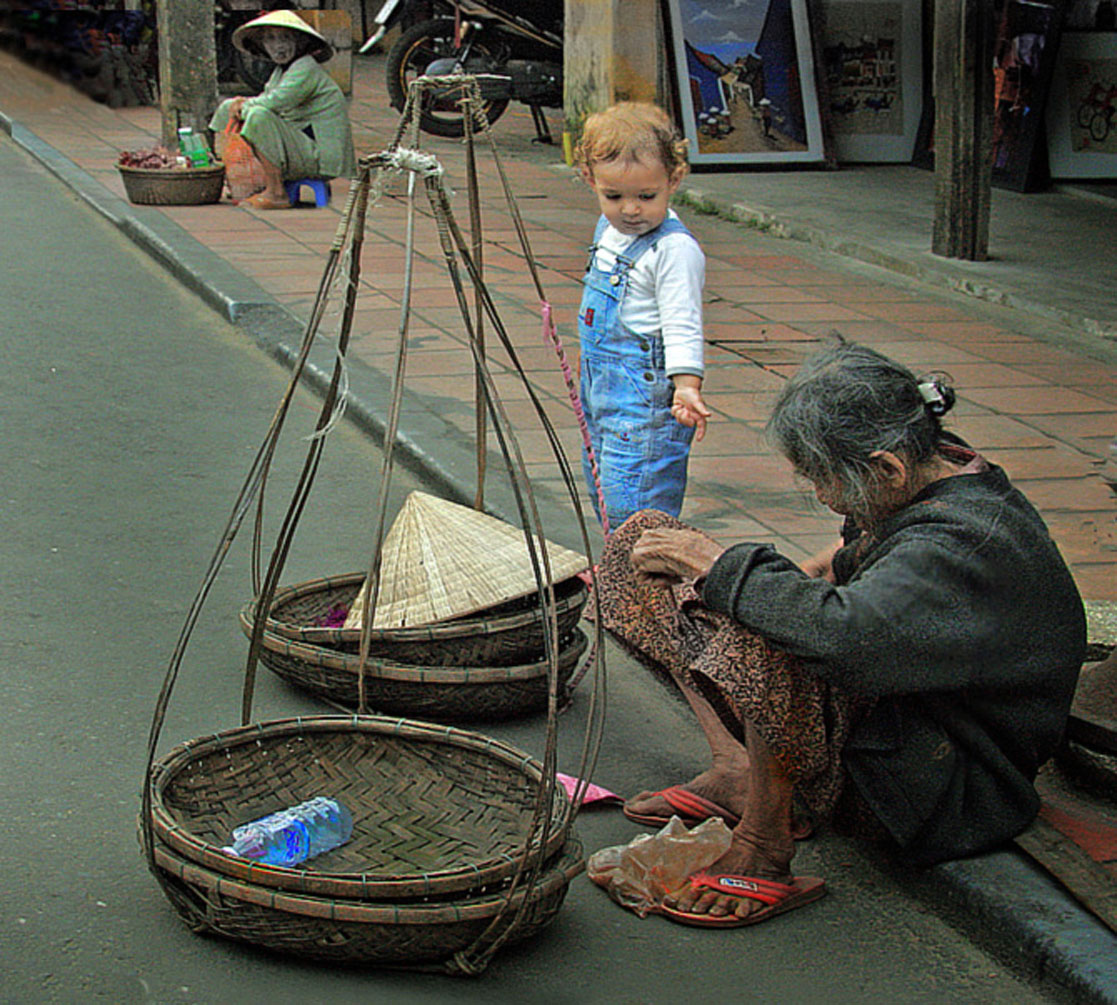
[[(546, 707), (543, 609), (538, 594), (528, 592), (535, 583), (522, 536), (510, 538), (503, 529), (507, 525), (494, 526), (498, 523), (421, 492), (409, 497), (384, 542), (383, 603), (376, 605), (364, 666), (371, 708), (451, 722), (499, 719)], [(468, 543), (460, 562), (455, 562), (455, 540)], [(500, 545), (509, 540), (523, 558), (515, 551), (502, 553)], [(548, 554), (567, 575), (555, 586), (563, 686), (588, 648), (586, 635), (577, 628), (588, 591), (570, 575), (585, 562), (555, 545), (548, 545)], [(264, 625), (260, 661), (290, 683), (355, 706), (364, 582), (364, 575), (354, 573), (277, 591)], [(437, 599), (433, 605), (431, 597)], [(493, 600), (497, 602), (470, 610)], [(344, 623), (337, 623), (342, 619)], [(255, 621), (256, 602), (251, 602), (240, 611), (249, 638)], [(345, 626), (354, 621), (356, 626)]]

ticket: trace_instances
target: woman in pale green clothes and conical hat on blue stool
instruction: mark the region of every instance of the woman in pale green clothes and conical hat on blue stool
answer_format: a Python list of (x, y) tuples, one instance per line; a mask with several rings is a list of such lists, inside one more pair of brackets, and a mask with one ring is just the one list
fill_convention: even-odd
[(285, 181), (349, 178), (356, 170), (345, 95), (319, 66), (333, 50), (289, 10), (275, 10), (241, 25), (232, 44), (270, 59), (276, 68), (256, 97), (222, 102), (209, 127), (220, 140), (230, 118), (264, 168), (266, 188), (245, 202), (255, 209), (287, 209)]

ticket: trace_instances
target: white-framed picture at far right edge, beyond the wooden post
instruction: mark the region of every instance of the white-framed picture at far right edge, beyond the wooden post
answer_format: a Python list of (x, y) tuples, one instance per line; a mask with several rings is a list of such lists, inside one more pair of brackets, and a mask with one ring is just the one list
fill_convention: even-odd
[(1065, 31), (1048, 103), (1053, 179), (1117, 178), (1117, 31)]

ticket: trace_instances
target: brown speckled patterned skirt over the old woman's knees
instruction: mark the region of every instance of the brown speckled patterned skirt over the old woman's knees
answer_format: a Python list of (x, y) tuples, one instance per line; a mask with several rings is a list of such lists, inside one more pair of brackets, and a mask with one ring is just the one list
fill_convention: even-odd
[(598, 573), (602, 625), (701, 695), (738, 739), (742, 724), (751, 722), (808, 806), (829, 815), (846, 782), (842, 746), (866, 705), (704, 606), (689, 583), (669, 590), (638, 583), (632, 547), (657, 527), (693, 529), (667, 514), (642, 510), (609, 538)]

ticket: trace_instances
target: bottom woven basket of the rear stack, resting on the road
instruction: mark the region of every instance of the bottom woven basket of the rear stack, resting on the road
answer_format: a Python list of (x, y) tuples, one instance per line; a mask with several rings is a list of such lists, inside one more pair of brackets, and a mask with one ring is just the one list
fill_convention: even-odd
[[(251, 610), (240, 612), (240, 626), (251, 636)], [(356, 707), (360, 700), (356, 653), (297, 642), (265, 631), (260, 662), (273, 673), (308, 691)], [(558, 647), (558, 689), (570, 680), (589, 639), (573, 629)], [(545, 659), (517, 667), (420, 667), (380, 657), (365, 666), (367, 705), (378, 712), (456, 722), (506, 719), (547, 706)]]

